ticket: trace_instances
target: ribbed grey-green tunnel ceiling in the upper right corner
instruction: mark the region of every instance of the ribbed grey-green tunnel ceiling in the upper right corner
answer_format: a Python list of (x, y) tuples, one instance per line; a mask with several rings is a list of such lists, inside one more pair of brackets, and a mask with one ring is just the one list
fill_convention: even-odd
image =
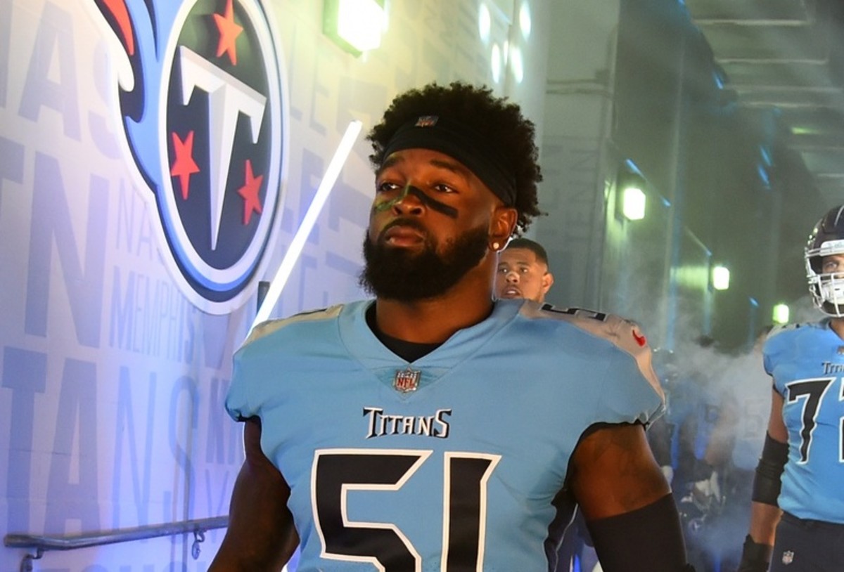
[(844, 0), (685, 0), (737, 105), (776, 110), (831, 208), (844, 202)]

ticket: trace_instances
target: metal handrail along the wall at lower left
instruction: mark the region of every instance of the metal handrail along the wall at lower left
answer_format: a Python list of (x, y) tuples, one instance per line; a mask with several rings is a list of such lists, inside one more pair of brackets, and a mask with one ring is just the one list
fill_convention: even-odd
[(205, 542), (205, 532), (229, 526), (229, 516), (212, 516), (192, 521), (170, 522), (161, 525), (136, 526), (116, 531), (95, 532), (62, 537), (35, 536), (32, 534), (7, 534), (3, 544), (8, 548), (35, 548), (35, 554), (26, 554), (20, 562), (20, 572), (32, 572), (32, 561), (41, 559), (47, 550), (74, 550), (118, 542), (133, 542), (146, 538), (170, 537), (193, 533), (191, 555), (199, 558), (199, 544)]

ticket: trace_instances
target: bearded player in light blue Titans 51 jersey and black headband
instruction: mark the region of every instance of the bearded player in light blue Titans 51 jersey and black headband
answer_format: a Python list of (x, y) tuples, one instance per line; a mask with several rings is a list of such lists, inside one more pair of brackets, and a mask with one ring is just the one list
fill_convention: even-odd
[(687, 569), (644, 427), (639, 329), (493, 300), (538, 214), (533, 123), (490, 89), (400, 94), (368, 138), (375, 299), (258, 326), (226, 407), (246, 461), (211, 570), (542, 572), (580, 505), (605, 572)]

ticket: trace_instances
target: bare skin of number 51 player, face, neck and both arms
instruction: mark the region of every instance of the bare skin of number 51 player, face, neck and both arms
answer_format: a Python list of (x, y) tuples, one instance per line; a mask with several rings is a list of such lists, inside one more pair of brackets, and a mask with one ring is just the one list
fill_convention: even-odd
[[(430, 200), (408, 192), (408, 186)], [(447, 208), (433, 208), (432, 201)], [(408, 218), (418, 224), (391, 226)], [(471, 171), (445, 154), (426, 149), (392, 154), (376, 173), (370, 240), (409, 251), (421, 251), (428, 241), (441, 251), (449, 240), (483, 226), (489, 248), (441, 296), (412, 302), (376, 299), (381, 331), (408, 342), (441, 343), (490, 316), (497, 251), (506, 245), (516, 222), (515, 208), (506, 207)], [(212, 572), (279, 570), (298, 541), (286, 505), (289, 488), (264, 456), (260, 437), (260, 423), (248, 420), (246, 461), (235, 482), (230, 526), (209, 568)], [(640, 509), (670, 492), (641, 425), (610, 425), (592, 432), (577, 445), (570, 467), (567, 484), (587, 521)], [(630, 559), (636, 554), (630, 553)]]

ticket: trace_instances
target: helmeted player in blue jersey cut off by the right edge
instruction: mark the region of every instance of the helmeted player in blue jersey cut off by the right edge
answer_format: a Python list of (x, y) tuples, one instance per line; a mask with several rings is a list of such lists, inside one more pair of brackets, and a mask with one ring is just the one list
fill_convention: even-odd
[(771, 332), (771, 416), (739, 572), (844, 570), (844, 206), (815, 225), (809, 291), (827, 316)]

